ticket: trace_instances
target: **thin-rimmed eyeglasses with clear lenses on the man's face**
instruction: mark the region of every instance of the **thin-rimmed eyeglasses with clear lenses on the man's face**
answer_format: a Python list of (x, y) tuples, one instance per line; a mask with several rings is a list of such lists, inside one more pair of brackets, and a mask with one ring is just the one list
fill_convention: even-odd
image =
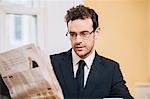
[(77, 34), (77, 33), (74, 33), (74, 32), (67, 32), (66, 33), (66, 36), (70, 39), (77, 39), (77, 36), (80, 35), (80, 37), (82, 39), (87, 39), (90, 37), (90, 35), (93, 33), (94, 31), (92, 32), (88, 32), (88, 31), (83, 31), (81, 32), (80, 34)]

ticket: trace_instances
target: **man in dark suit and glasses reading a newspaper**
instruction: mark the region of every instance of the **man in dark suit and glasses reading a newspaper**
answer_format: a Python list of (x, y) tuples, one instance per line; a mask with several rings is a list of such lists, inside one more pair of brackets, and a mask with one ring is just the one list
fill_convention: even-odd
[(67, 11), (65, 19), (68, 27), (66, 35), (72, 48), (50, 56), (64, 98), (133, 99), (119, 64), (98, 55), (94, 49), (95, 39), (100, 32), (95, 11), (78, 5)]

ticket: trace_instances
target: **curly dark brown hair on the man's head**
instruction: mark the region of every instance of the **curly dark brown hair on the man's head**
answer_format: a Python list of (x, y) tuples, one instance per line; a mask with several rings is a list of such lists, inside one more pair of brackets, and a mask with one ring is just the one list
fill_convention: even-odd
[(65, 16), (67, 25), (70, 20), (73, 21), (76, 19), (86, 19), (86, 18), (92, 19), (93, 29), (96, 30), (96, 28), (99, 26), (98, 15), (93, 9), (89, 7), (85, 7), (84, 5), (72, 7), (67, 11), (67, 14)]

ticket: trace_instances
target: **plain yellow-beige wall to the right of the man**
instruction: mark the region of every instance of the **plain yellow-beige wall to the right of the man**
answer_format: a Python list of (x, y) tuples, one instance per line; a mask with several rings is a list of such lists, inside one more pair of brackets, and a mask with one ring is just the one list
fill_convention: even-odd
[(99, 14), (101, 33), (96, 42), (98, 53), (120, 63), (124, 79), (133, 96), (135, 85), (148, 82), (150, 79), (147, 2), (147, 0), (84, 0), (85, 5), (94, 8)]

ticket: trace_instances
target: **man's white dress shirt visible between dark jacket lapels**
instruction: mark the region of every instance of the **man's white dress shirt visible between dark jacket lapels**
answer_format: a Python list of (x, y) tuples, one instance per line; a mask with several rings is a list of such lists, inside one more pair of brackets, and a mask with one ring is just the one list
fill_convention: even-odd
[(86, 81), (87, 81), (89, 72), (90, 72), (90, 70), (91, 70), (91, 65), (92, 65), (92, 63), (93, 63), (94, 57), (95, 57), (95, 50), (93, 50), (93, 52), (91, 53), (91, 55), (88, 56), (87, 58), (81, 59), (81, 58), (74, 52), (74, 50), (72, 49), (72, 60), (73, 60), (74, 78), (76, 77), (76, 72), (77, 72), (77, 70), (78, 70), (78, 66), (79, 66), (78, 62), (79, 62), (80, 60), (84, 60), (85, 63), (86, 63), (86, 66), (84, 66), (84, 86), (86, 85)]

